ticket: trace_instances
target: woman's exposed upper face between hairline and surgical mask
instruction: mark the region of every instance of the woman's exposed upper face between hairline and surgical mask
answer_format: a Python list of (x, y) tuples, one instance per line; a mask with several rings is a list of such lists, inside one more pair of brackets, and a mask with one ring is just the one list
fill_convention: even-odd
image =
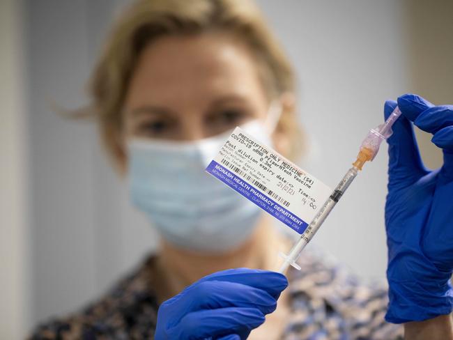
[(125, 97), (123, 135), (194, 141), (264, 119), (268, 106), (245, 46), (219, 33), (168, 36), (139, 57)]

